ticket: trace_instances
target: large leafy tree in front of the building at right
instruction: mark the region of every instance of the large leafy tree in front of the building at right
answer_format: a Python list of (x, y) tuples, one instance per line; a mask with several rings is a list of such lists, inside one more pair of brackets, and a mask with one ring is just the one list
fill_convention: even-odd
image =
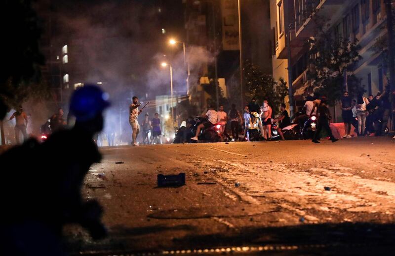
[[(307, 77), (316, 88), (315, 92), (327, 96), (328, 103), (335, 105), (340, 100), (344, 88), (345, 74), (353, 70), (353, 66), (362, 57), (358, 51), (357, 41), (342, 38), (325, 26), (326, 20), (314, 14), (317, 32), (307, 40), (310, 58), (308, 60)], [(357, 93), (359, 80), (354, 74), (347, 76), (348, 91), (354, 96)]]

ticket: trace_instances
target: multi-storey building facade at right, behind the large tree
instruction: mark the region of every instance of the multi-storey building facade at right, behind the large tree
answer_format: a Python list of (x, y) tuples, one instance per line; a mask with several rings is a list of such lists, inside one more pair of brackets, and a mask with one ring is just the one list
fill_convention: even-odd
[[(367, 95), (383, 91), (387, 81), (384, 59), (377, 52), (377, 39), (385, 36), (386, 11), (384, 0), (270, 0), (271, 27), (273, 32), (273, 75), (287, 77), (286, 29), (290, 26), (290, 49), (292, 65), (292, 84), (296, 107), (305, 96), (312, 94), (307, 81), (306, 70), (309, 49), (306, 41), (314, 37), (316, 23), (314, 15), (325, 19), (333, 36), (357, 40), (362, 60), (348, 70), (361, 80)], [(288, 79), (286, 79), (288, 82)], [(341, 111), (337, 107), (337, 121), (341, 121)]]

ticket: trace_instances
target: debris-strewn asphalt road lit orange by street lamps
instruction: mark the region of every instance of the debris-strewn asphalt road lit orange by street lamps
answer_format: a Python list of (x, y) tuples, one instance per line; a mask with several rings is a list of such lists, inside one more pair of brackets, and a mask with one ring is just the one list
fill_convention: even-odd
[[(84, 194), (109, 238), (65, 230), (79, 255), (393, 255), (395, 141), (230, 142), (101, 148)], [(116, 163), (122, 162), (122, 163)], [(158, 188), (158, 174), (186, 185)]]

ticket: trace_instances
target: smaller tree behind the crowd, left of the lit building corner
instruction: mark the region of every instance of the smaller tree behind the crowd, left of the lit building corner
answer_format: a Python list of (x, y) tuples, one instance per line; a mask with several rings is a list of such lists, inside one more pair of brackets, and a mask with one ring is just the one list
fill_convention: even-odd
[(260, 103), (266, 99), (276, 115), (280, 104), (288, 95), (286, 82), (280, 78), (277, 83), (271, 75), (264, 74), (260, 67), (253, 63), (245, 64), (244, 80), (247, 102), (251, 101), (253, 97), (256, 97)]

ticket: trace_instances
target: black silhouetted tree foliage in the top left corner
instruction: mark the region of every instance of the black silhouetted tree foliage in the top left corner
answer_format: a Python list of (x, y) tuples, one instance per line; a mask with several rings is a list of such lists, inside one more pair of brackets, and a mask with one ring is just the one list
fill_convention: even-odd
[(18, 105), (30, 96), (47, 92), (42, 81), (40, 65), (44, 57), (40, 53), (40, 27), (31, 0), (5, 0), (2, 4), (1, 40), (2, 67), (0, 91), (11, 106)]

